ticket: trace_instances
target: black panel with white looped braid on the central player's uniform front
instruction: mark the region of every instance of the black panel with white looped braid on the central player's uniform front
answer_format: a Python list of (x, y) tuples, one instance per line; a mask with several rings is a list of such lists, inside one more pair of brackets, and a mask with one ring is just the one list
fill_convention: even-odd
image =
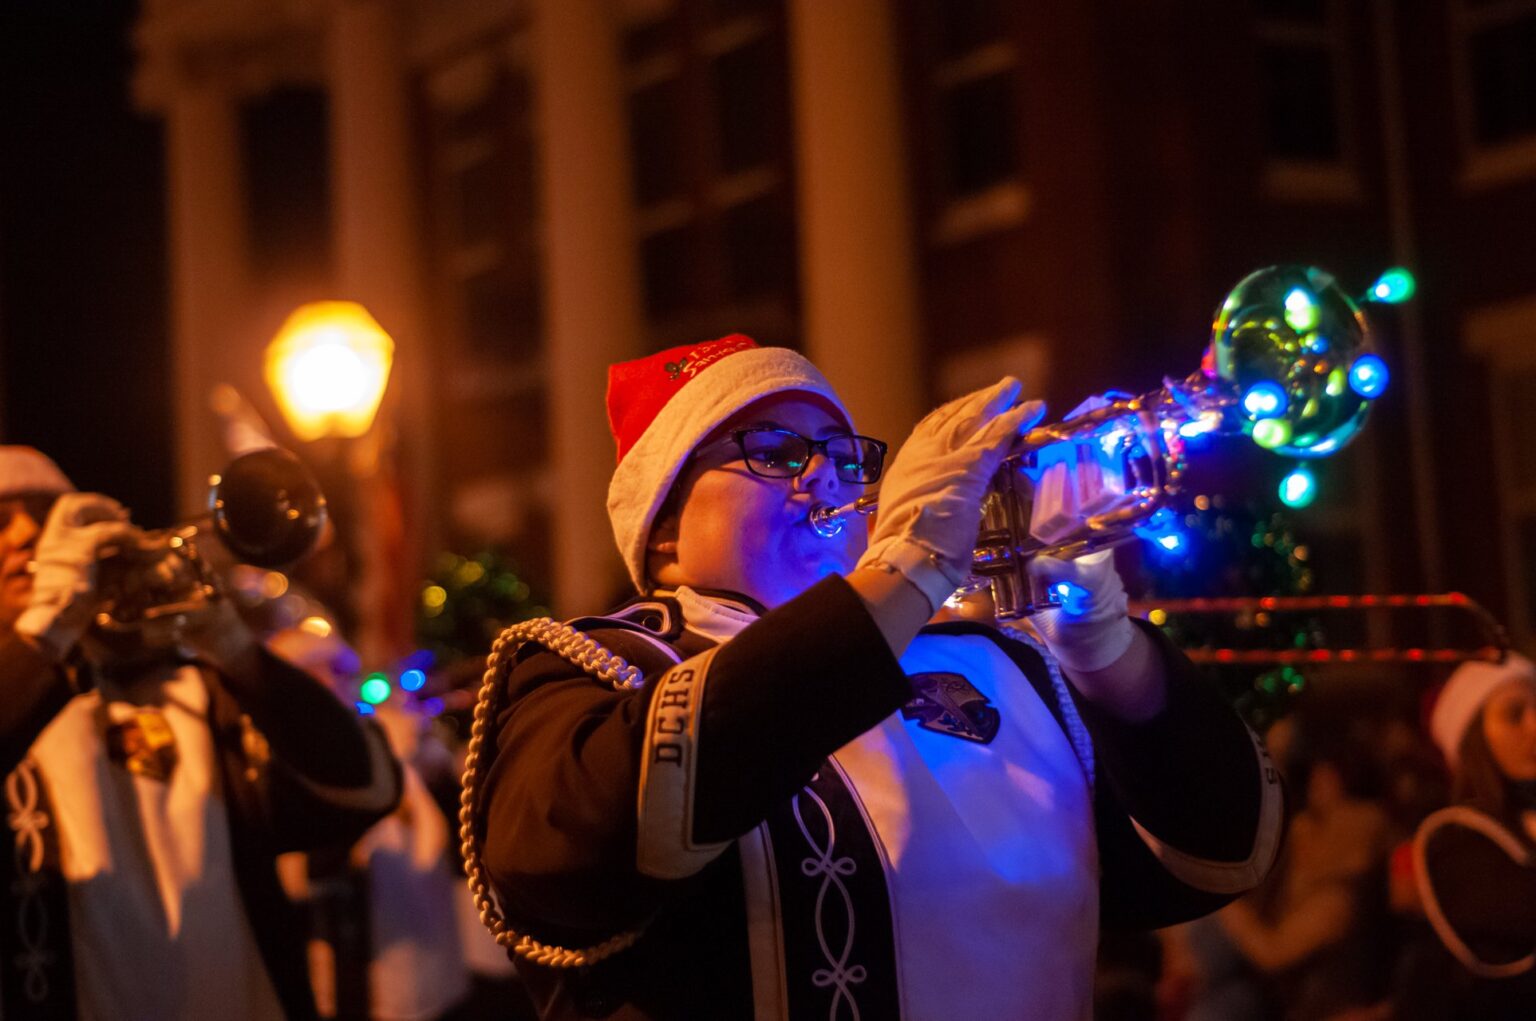
[(766, 823), (779, 878), (790, 1018), (900, 1018), (885, 867), (842, 774), (822, 763), (811, 783)]

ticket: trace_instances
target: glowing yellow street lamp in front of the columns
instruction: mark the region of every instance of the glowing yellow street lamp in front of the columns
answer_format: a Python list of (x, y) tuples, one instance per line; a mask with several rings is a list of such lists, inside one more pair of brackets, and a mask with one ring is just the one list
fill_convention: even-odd
[(303, 441), (362, 436), (384, 399), (395, 341), (355, 301), (312, 301), (267, 344), (267, 385)]

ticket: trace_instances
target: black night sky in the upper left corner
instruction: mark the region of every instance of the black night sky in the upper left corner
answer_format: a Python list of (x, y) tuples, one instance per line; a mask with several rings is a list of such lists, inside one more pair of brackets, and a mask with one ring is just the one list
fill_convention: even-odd
[(161, 123), (126, 0), (0, 3), (0, 439), (167, 524)]

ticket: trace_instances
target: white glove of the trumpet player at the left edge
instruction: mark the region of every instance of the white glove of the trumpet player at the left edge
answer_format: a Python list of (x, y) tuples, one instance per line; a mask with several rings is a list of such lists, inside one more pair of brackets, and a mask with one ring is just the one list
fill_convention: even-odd
[(100, 493), (65, 493), (54, 504), (32, 559), (32, 599), (15, 622), (17, 634), (60, 659), (95, 616), (97, 554), (129, 536), (127, 511)]

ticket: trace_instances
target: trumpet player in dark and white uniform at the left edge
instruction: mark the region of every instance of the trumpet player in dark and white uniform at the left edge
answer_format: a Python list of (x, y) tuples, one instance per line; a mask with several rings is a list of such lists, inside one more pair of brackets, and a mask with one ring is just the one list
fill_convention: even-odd
[(0, 447), (0, 1015), (312, 1018), (275, 857), (361, 835), (398, 768), (227, 600), (189, 659), (78, 668), (98, 559), (131, 534), (115, 501)]

